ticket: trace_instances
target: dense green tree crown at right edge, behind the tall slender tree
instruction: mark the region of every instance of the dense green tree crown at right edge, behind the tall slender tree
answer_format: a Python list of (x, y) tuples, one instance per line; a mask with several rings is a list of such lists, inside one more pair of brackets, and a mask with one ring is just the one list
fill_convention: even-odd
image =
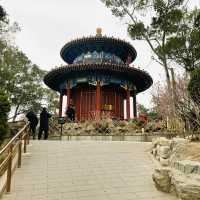
[(167, 57), (191, 73), (200, 65), (200, 9), (187, 12), (165, 45)]

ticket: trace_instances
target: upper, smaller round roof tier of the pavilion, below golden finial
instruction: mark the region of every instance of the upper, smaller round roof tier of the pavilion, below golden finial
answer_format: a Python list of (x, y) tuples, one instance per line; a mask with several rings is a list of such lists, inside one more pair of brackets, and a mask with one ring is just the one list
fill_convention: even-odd
[(131, 62), (137, 56), (137, 52), (131, 44), (124, 40), (107, 36), (83, 37), (72, 40), (61, 49), (60, 55), (65, 62), (72, 64), (75, 58), (88, 51), (113, 53), (120, 57), (124, 63), (126, 63), (128, 56), (131, 56)]

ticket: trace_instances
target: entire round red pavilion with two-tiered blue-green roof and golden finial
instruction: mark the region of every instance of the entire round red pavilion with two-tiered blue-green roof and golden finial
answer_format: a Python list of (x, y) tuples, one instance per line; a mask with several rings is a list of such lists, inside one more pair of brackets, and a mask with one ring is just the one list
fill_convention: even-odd
[(136, 95), (148, 89), (153, 80), (140, 69), (130, 67), (136, 50), (129, 43), (112, 37), (83, 37), (68, 42), (61, 49), (61, 57), (68, 65), (50, 71), (44, 82), (60, 93), (59, 116), (62, 116), (63, 95), (67, 106), (73, 103), (76, 119), (84, 121), (100, 117), (102, 113), (112, 118), (130, 119), (130, 97), (133, 113), (137, 117)]

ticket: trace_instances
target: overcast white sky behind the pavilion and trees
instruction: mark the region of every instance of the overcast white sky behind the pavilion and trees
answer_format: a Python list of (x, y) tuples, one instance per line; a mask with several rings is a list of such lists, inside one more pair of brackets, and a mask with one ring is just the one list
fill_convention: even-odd
[[(101, 27), (103, 34), (129, 41), (137, 50), (134, 65), (150, 73), (154, 82), (164, 81), (162, 68), (151, 61), (152, 53), (145, 42), (131, 40), (126, 25), (112, 16), (100, 0), (0, 0), (21, 32), (15, 43), (33, 63), (51, 70), (65, 64), (60, 57), (62, 46), (77, 37), (95, 35)], [(200, 0), (190, 0), (200, 7)], [(138, 95), (139, 103), (150, 106), (150, 90)]]

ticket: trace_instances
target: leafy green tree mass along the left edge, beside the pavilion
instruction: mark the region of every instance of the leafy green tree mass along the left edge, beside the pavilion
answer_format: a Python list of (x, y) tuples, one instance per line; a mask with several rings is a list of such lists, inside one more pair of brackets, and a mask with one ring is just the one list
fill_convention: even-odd
[(9, 34), (18, 30), (17, 23), (10, 26), (8, 16), (0, 6), (0, 85), (14, 111), (13, 121), (29, 109), (38, 113), (44, 103), (51, 110), (55, 110), (57, 106), (54, 104), (56, 93), (52, 94), (43, 85), (46, 71), (33, 64), (19, 48), (10, 44)]

